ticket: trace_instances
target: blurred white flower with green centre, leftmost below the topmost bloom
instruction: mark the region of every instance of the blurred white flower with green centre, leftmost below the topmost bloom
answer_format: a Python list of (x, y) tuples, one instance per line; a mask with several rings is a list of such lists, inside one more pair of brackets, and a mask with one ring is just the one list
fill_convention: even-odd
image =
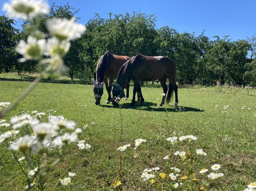
[(23, 55), (19, 62), (26, 60), (40, 60), (46, 45), (45, 39), (37, 40), (35, 37), (28, 36), (27, 43), (20, 40), (16, 47), (16, 52)]

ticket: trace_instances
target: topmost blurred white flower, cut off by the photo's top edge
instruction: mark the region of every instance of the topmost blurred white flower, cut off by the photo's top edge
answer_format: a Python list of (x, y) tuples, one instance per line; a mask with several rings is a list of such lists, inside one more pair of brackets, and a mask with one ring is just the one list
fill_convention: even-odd
[(3, 4), (2, 10), (6, 11), (7, 17), (26, 20), (47, 14), (49, 5), (44, 0), (11, 0), (11, 4)]

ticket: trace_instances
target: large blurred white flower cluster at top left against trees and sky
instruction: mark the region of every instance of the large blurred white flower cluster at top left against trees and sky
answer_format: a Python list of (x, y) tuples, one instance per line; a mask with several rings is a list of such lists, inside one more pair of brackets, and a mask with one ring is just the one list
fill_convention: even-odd
[[(49, 12), (49, 5), (43, 0), (12, 0), (11, 3), (4, 3), (3, 11), (6, 11), (6, 15), (10, 18), (23, 19), (30, 23), (33, 18), (39, 20), (41, 16), (46, 15)], [(86, 30), (84, 25), (77, 24), (75, 20), (75, 18), (46, 20), (49, 34), (44, 34), (30, 24), (27, 27), (29, 33), (27, 41), (21, 40), (16, 47), (16, 52), (23, 56), (19, 62), (40, 61), (46, 74), (57, 78), (60, 70), (65, 68), (62, 57), (69, 51), (71, 41), (80, 38)], [(43, 59), (42, 55), (47, 58)]]

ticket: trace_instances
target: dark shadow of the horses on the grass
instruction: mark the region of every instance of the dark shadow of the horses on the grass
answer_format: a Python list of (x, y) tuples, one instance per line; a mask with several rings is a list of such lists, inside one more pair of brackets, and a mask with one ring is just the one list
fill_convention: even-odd
[[(100, 104), (101, 107), (108, 107), (108, 108), (119, 108), (118, 105), (113, 106), (112, 103), (110, 104)], [(140, 105), (139, 102), (135, 102), (133, 107), (130, 107), (130, 102), (122, 103), (121, 105), (122, 109), (138, 109), (138, 110), (146, 110), (146, 111), (169, 111), (169, 112), (185, 112), (185, 111), (195, 111), (195, 112), (203, 112), (203, 109), (198, 109), (194, 107), (185, 107), (185, 106), (178, 106), (174, 107), (172, 105), (166, 106), (157, 106), (156, 103), (152, 102), (145, 102), (143, 105)]]

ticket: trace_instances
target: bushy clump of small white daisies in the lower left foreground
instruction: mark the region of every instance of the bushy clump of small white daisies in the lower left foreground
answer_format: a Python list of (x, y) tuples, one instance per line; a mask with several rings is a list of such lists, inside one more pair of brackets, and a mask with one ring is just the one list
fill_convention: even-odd
[[(77, 142), (78, 136), (82, 133), (82, 129), (75, 128), (74, 121), (69, 121), (63, 116), (49, 115), (46, 117), (47, 122), (40, 122), (38, 116), (41, 118), (45, 113), (36, 111), (32, 113), (34, 116), (28, 113), (12, 116), (10, 123), (6, 123), (6, 120), (0, 121), (0, 132), (12, 127), (12, 130), (0, 134), (0, 144), (5, 143), (12, 150), (27, 178), (26, 189), (42, 182), (49, 170), (65, 156), (66, 146)], [(66, 129), (73, 132), (65, 132)], [(91, 148), (91, 145), (84, 142), (85, 140), (78, 141), (79, 149)], [(50, 165), (47, 155), (53, 150), (58, 151), (58, 159)], [(18, 155), (21, 157), (18, 158)], [(33, 159), (40, 160), (34, 161)], [(72, 175), (72, 173), (69, 174), (69, 176)], [(65, 178), (61, 180), (61, 184), (68, 185), (70, 180), (70, 177)]]

